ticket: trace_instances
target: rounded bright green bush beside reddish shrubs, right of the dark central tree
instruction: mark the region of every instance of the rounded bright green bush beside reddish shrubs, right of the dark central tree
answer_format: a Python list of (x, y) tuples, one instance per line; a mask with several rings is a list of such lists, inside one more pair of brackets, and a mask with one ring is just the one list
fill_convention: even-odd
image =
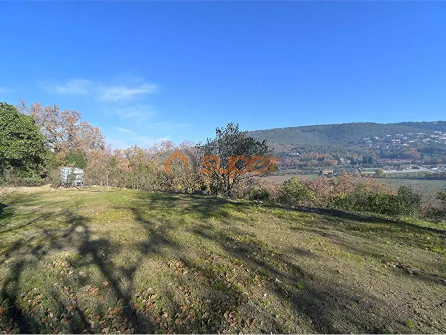
[(297, 177), (292, 177), (277, 186), (277, 201), (279, 203), (296, 206), (308, 203), (315, 197), (314, 192), (308, 189)]

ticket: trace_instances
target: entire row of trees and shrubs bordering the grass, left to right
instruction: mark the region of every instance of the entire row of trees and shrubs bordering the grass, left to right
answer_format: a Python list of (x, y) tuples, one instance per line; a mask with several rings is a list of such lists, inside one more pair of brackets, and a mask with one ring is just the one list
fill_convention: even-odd
[(112, 150), (100, 129), (82, 120), (77, 111), (38, 103), (26, 106), (23, 101), (18, 106), (0, 103), (3, 184), (57, 185), (60, 166), (73, 166), (84, 169), (86, 185), (185, 193), (207, 190), (292, 207), (446, 217), (444, 192), (424, 196), (411, 187), (396, 190), (355, 174), (312, 180), (292, 177), (274, 185), (261, 178), (275, 168), (271, 155), (265, 140), (250, 137), (234, 123), (216, 128), (214, 138), (200, 143), (175, 145), (164, 140), (149, 148), (132, 145)]

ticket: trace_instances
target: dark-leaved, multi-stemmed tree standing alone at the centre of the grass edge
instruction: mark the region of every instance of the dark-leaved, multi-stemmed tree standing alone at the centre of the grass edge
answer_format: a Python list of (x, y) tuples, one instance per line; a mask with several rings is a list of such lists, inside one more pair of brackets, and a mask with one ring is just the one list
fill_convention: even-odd
[(232, 122), (226, 128), (217, 128), (215, 134), (214, 139), (199, 144), (204, 157), (202, 172), (210, 176), (211, 186), (231, 196), (234, 185), (241, 180), (270, 172), (273, 161), (267, 157), (270, 149), (266, 140), (248, 137), (247, 131)]

